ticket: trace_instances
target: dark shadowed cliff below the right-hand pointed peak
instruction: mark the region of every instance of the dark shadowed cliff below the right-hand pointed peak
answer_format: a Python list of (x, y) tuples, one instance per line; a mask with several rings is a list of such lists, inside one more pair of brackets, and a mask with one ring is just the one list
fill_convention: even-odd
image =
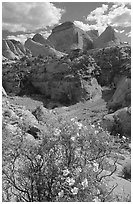
[(97, 63), (97, 80), (102, 86), (115, 85), (123, 76), (131, 76), (131, 47), (112, 46), (88, 51)]

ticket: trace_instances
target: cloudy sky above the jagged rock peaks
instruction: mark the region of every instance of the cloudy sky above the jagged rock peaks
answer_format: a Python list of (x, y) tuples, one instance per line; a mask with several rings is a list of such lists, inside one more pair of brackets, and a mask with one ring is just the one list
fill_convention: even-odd
[(47, 38), (52, 29), (71, 21), (77, 27), (98, 30), (114, 27), (121, 41), (131, 41), (130, 2), (2, 2), (2, 37), (24, 43), (35, 33)]

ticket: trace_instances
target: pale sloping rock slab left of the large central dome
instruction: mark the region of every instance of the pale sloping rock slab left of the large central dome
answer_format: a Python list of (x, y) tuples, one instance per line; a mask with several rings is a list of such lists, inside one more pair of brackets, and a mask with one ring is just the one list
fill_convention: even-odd
[(43, 57), (51, 56), (55, 58), (61, 58), (62, 56), (64, 56), (64, 53), (56, 51), (54, 48), (50, 47), (49, 45), (44, 45), (44, 44), (35, 42), (32, 39), (28, 39), (25, 42), (25, 47), (31, 51), (32, 56), (41, 55)]

